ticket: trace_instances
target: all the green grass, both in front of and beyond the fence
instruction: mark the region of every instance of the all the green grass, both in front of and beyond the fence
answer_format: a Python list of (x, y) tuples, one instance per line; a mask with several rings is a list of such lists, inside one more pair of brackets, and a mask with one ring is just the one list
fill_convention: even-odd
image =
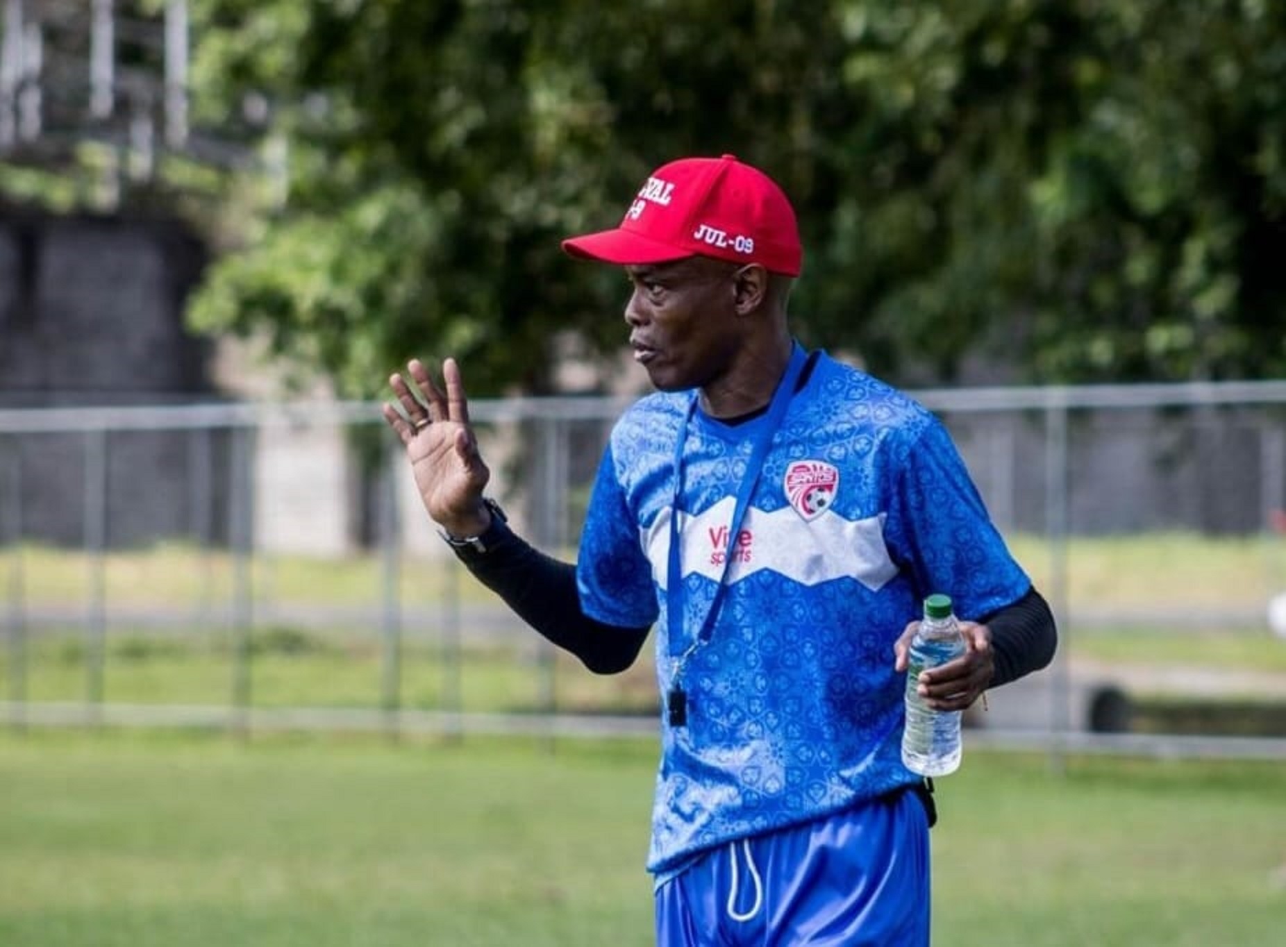
[[(1016, 544), (1044, 583), (1044, 549)], [(1263, 627), (1148, 623), (1150, 604), (1245, 610), (1278, 583), (1276, 541), (1142, 537), (1087, 541), (1070, 556), (1078, 604), (1145, 615), (1073, 628), (1076, 655), (1129, 668), (1169, 662), (1286, 672)], [(91, 563), (0, 550), (6, 589), (32, 615), (84, 612)], [(228, 707), (237, 646), (204, 604), (229, 594), (217, 554), (157, 549), (104, 563), (108, 609), (161, 609), (175, 628), (113, 619), (93, 677), (76, 618), (0, 648), (0, 700)], [(426, 572), (427, 569), (427, 572)], [(256, 615), (307, 603), (378, 601), (378, 562), (255, 564)], [(1286, 586), (1286, 578), (1281, 582)], [(401, 600), (490, 603), (440, 563), (408, 564)], [(0, 603), (3, 604), (3, 603)], [(12, 600), (10, 600), (12, 604)], [(1253, 612), (1254, 609), (1251, 609)], [(0, 609), (10, 632), (15, 610)], [(183, 617), (188, 615), (186, 624)], [(460, 649), (408, 624), (405, 708), (640, 711), (649, 662), (598, 678), (531, 646)], [(379, 628), (257, 626), (256, 707), (374, 708), (387, 684)], [(553, 686), (556, 685), (556, 686)], [(550, 747), (553, 745), (553, 752)], [(656, 747), (463, 743), (222, 732), (0, 731), (0, 947), (644, 947), (643, 871)], [(940, 781), (934, 829), (935, 943), (952, 947), (1268, 947), (1286, 930), (1286, 767), (1281, 763), (967, 753)]]

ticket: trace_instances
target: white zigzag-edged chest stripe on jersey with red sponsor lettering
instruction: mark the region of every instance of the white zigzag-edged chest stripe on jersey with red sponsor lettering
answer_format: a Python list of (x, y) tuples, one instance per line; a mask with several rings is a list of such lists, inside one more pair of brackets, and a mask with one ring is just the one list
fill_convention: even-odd
[[(729, 541), (734, 500), (725, 497), (697, 517), (680, 514), (683, 574), (700, 573), (715, 582), (723, 574), (728, 585), (760, 569), (772, 569), (800, 585), (819, 585), (835, 578), (854, 578), (877, 590), (898, 574), (883, 542), (883, 514), (845, 519), (826, 510), (805, 522), (790, 506), (773, 513), (751, 508), (736, 542)], [(642, 531), (643, 550), (652, 563), (652, 577), (662, 589), (670, 555), (670, 510), (665, 509), (651, 528)]]

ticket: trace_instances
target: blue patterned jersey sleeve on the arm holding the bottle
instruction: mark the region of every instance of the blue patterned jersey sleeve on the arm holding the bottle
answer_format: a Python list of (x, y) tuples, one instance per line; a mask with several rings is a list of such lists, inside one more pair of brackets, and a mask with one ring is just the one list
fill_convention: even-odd
[(914, 576), (917, 594), (949, 595), (961, 618), (976, 621), (1031, 587), (936, 418), (903, 457), (886, 531), (894, 556)]

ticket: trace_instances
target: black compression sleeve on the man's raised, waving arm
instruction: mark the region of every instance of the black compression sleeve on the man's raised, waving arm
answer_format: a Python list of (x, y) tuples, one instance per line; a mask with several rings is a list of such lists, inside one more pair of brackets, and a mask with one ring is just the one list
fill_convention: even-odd
[(619, 673), (634, 663), (649, 628), (621, 628), (586, 615), (575, 565), (545, 555), (498, 518), (482, 540), (486, 553), (462, 546), (455, 554), (522, 621), (594, 673)]

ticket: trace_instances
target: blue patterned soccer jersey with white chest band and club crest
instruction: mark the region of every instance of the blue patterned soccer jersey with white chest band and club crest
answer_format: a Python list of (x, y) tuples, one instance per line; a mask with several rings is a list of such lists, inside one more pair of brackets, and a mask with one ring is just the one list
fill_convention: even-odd
[[(945, 592), (977, 619), (1031, 586), (941, 423), (896, 389), (819, 355), (737, 536), (736, 495), (768, 419), (685, 420), (693, 397), (651, 394), (617, 421), (577, 559), (586, 614), (656, 623), (661, 694), (687, 654), (685, 721), (662, 721), (648, 854), (658, 874), (916, 781), (900, 758), (894, 642), (926, 595)], [(671, 628), (680, 434), (683, 627)], [(724, 600), (696, 642), (721, 577)]]

